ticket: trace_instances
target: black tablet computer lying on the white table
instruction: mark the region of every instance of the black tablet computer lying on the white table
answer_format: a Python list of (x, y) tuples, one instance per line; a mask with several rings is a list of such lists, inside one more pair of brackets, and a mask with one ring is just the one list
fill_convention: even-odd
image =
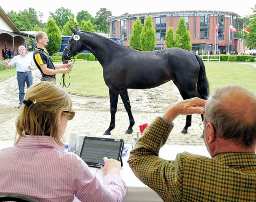
[(83, 139), (80, 157), (89, 167), (100, 168), (99, 163), (104, 163), (105, 156), (118, 160), (122, 164), (123, 147), (122, 139), (86, 136)]

